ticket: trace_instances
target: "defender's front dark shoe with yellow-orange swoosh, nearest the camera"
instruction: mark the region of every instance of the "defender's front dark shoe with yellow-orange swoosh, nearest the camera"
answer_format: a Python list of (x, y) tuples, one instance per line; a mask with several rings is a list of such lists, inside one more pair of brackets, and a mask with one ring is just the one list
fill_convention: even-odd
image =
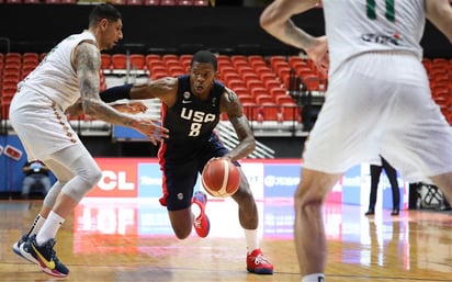
[(55, 253), (54, 239), (49, 239), (43, 246), (37, 246), (36, 235), (33, 235), (30, 237), (29, 244), (31, 255), (37, 260), (37, 264), (45, 273), (56, 278), (64, 278), (69, 274), (69, 270), (59, 262)]

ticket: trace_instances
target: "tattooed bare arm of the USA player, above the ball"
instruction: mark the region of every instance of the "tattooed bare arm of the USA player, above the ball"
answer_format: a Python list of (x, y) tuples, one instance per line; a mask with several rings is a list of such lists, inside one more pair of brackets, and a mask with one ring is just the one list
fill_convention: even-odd
[(229, 158), (231, 161), (239, 160), (247, 157), (256, 148), (255, 135), (252, 134), (251, 127), (247, 116), (245, 116), (240, 101), (237, 94), (225, 88), (221, 100), (221, 112), (225, 112), (236, 131), (239, 144), (227, 153), (224, 157)]

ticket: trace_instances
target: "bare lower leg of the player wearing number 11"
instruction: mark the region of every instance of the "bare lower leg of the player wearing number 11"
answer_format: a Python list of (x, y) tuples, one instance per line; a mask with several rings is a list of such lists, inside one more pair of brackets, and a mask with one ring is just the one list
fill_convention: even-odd
[(295, 246), (302, 275), (325, 272), (326, 237), (321, 208), (341, 174), (304, 168), (295, 192)]

